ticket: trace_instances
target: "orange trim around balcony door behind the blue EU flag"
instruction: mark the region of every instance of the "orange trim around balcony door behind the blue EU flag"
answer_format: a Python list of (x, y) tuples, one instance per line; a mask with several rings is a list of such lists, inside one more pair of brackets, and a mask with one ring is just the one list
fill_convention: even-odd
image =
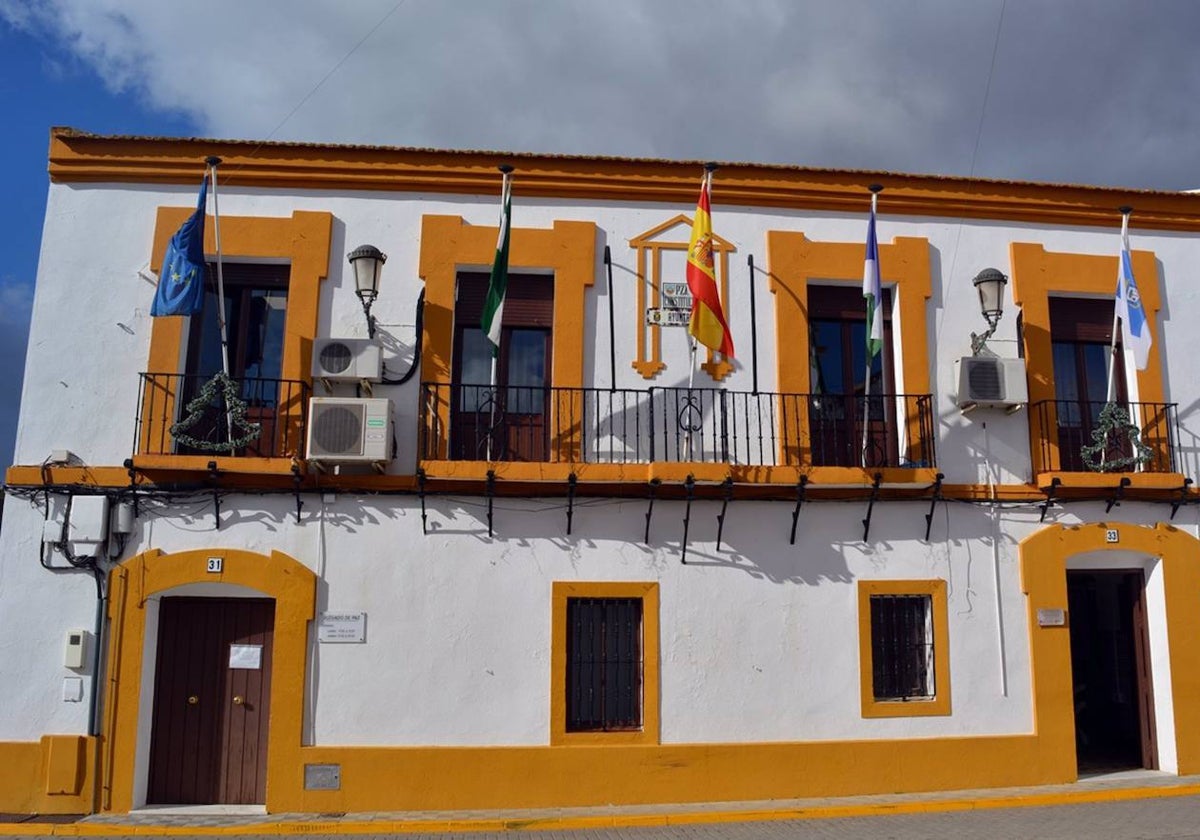
[[(194, 168), (194, 163), (193, 163)], [(194, 180), (194, 175), (193, 175)], [(184, 223), (193, 208), (158, 208), (155, 222), (154, 250), (150, 269), (162, 269), (167, 242)], [(290, 217), (222, 216), (221, 252), (223, 259), (277, 259), (290, 265), (288, 276), (288, 310), (283, 328), (283, 365), (281, 378), (312, 384), (312, 342), (317, 336), (317, 313), (320, 306), (320, 281), (330, 271), (334, 217), (328, 212), (298, 210)], [(204, 252), (216, 254), (212, 224), (205, 226)], [(185, 318), (169, 316), (151, 318), (150, 373), (180, 373), (187, 353), (184, 335)], [(162, 449), (162, 442), (150, 440), (150, 430), (169, 427), (175, 414), (175, 397), (146, 400), (143, 406), (143, 439), (140, 452)], [(170, 442), (167, 442), (167, 448)], [(301, 455), (296, 452), (295, 455)], [(244, 460), (240, 460), (244, 461)], [(271, 472), (271, 470), (268, 470)]]

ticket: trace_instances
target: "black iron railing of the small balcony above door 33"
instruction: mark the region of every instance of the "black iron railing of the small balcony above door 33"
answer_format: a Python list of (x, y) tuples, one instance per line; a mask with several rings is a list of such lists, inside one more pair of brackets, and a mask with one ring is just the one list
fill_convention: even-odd
[[(1129, 464), (1134, 457), (1130, 437), (1123, 432), (1103, 434), (1100, 412), (1106, 403), (1085, 400), (1044, 400), (1031, 407), (1036, 421), (1034, 440), (1040, 448), (1045, 472), (1177, 473), (1180, 419), (1174, 402), (1118, 403), (1129, 416), (1138, 438), (1148, 449), (1147, 460)], [(1093, 450), (1085, 462), (1084, 449)]]

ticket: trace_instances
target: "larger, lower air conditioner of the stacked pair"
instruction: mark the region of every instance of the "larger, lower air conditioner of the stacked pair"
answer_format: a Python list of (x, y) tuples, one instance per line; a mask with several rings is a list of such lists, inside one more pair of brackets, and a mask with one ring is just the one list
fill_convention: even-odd
[(312, 397), (308, 461), (330, 464), (391, 461), (391, 400)]

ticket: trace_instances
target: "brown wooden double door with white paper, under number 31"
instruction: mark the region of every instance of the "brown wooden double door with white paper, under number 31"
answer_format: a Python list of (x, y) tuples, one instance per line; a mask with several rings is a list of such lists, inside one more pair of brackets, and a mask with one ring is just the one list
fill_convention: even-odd
[(164, 598), (150, 804), (263, 804), (275, 601)]

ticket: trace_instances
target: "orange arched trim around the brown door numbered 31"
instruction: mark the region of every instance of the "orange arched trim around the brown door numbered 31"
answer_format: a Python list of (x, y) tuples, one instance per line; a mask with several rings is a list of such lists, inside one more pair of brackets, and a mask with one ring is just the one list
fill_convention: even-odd
[[(206, 570), (209, 557), (223, 558), (218, 575)], [(143, 673), (145, 604), (187, 583), (228, 583), (248, 587), (275, 599), (270, 736), (266, 749), (266, 808), (289, 810), (300, 767), (304, 688), (307, 672), (308, 622), (316, 611), (317, 578), (287, 554), (259, 554), (239, 548), (202, 548), (164, 554), (145, 551), (113, 569), (109, 575), (108, 684), (104, 724), (107, 755), (101, 797), (102, 811), (128, 811), (133, 806), (138, 708), (150, 674)]]

